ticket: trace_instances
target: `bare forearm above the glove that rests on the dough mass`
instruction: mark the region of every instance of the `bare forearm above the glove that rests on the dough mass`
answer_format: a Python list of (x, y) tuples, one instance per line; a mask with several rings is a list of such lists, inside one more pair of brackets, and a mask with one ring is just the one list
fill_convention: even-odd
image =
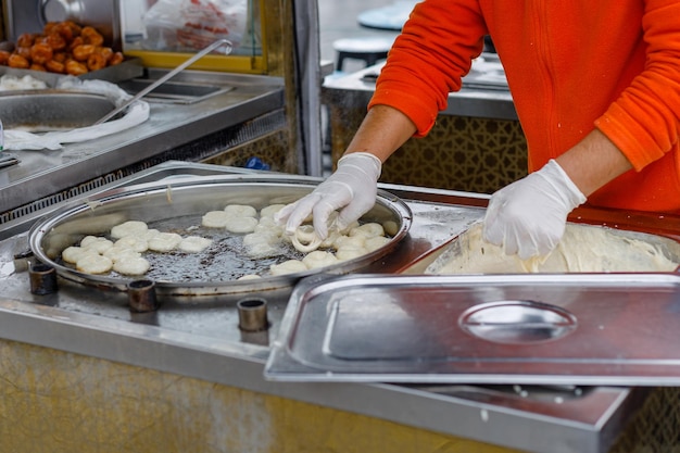
[(585, 197), (632, 168), (626, 155), (597, 129), (556, 161)]

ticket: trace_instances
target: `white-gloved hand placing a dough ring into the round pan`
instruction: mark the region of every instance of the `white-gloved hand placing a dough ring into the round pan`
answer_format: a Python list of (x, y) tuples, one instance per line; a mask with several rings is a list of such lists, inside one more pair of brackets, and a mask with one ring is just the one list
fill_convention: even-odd
[(293, 235), (313, 214), (314, 231), (319, 239), (328, 236), (330, 213), (342, 209), (336, 219), (339, 230), (357, 221), (376, 203), (382, 163), (367, 152), (353, 152), (338, 161), (338, 168), (312, 193), (281, 209), (277, 223), (286, 222), (286, 234)]

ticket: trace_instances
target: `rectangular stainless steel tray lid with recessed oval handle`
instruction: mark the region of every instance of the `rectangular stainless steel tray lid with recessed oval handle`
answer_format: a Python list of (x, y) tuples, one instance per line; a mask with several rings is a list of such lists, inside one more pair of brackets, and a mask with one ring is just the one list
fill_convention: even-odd
[(680, 385), (680, 275), (314, 276), (265, 377)]

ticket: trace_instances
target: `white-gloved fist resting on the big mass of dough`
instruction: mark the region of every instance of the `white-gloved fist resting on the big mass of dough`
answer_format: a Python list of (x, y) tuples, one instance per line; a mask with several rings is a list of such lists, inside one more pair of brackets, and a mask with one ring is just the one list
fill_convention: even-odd
[(521, 260), (546, 255), (559, 242), (567, 215), (585, 197), (559, 164), (543, 168), (491, 196), (484, 216), (484, 240)]

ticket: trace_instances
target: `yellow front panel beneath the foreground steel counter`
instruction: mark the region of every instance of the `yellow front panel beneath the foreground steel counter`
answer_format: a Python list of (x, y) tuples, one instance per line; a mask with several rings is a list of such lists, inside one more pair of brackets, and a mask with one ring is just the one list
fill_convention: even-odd
[(367, 416), (3, 340), (0, 452), (512, 453)]

